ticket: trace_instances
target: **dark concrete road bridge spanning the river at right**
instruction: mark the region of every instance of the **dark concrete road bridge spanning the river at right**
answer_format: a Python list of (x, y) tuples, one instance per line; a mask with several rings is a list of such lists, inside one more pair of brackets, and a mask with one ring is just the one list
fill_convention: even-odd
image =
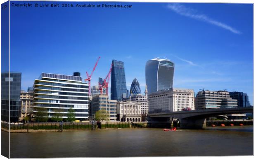
[(180, 128), (182, 129), (203, 129), (206, 127), (206, 118), (208, 117), (237, 113), (253, 113), (253, 107), (150, 113), (149, 119), (157, 122), (170, 121), (170, 118), (177, 118), (180, 120)]

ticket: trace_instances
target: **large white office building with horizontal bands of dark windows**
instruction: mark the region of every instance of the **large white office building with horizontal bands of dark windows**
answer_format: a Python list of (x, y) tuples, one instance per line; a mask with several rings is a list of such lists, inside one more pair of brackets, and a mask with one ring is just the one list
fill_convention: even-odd
[(80, 76), (42, 73), (34, 82), (33, 113), (36, 108), (46, 108), (49, 118), (61, 112), (65, 119), (68, 110), (74, 109), (76, 119), (87, 120), (88, 91)]

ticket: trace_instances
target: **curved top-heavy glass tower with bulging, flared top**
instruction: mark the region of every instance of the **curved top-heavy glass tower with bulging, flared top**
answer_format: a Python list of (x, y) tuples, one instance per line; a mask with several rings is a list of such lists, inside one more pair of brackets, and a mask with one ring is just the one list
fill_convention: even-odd
[(148, 94), (173, 87), (174, 63), (167, 59), (154, 58), (146, 63)]

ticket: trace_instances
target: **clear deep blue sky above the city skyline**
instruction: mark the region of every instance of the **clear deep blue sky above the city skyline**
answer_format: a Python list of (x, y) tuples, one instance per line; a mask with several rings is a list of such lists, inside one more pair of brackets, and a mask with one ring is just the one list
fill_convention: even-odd
[(116, 59), (125, 64), (127, 88), (137, 78), (144, 92), (146, 61), (166, 57), (175, 63), (173, 87), (242, 91), (253, 105), (252, 4), (113, 2), (104, 4), (133, 7), (43, 8), (30, 3), (33, 7), (11, 6), (10, 12), (11, 70), (22, 72), (22, 89), (41, 72), (78, 71), (84, 79), (101, 56), (92, 85)]

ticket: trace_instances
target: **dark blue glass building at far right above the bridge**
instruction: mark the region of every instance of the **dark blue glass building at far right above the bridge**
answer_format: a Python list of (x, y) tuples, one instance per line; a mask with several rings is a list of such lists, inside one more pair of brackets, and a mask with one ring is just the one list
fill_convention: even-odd
[(229, 94), (232, 99), (237, 100), (238, 107), (250, 107), (251, 106), (251, 104), (249, 102), (249, 97), (247, 96), (246, 93), (234, 91), (234, 92), (230, 92)]

